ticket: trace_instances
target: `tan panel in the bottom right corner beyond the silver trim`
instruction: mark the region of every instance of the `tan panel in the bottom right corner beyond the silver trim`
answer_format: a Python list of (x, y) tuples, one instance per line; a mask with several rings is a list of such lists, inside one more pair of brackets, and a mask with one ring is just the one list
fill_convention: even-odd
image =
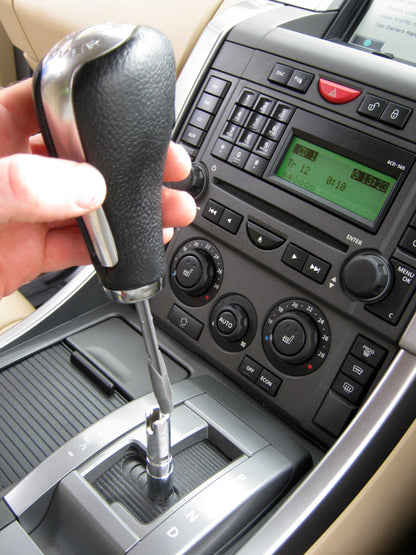
[(410, 553), (408, 542), (413, 543), (416, 534), (415, 468), (413, 422), (377, 473), (307, 555), (390, 555), (399, 553), (398, 546), (405, 550), (401, 553)]

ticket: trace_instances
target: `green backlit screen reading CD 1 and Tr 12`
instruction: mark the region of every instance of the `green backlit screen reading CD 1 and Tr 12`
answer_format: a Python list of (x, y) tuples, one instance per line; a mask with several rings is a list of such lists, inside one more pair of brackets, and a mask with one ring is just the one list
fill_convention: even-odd
[(299, 137), (292, 139), (276, 175), (371, 222), (396, 181)]

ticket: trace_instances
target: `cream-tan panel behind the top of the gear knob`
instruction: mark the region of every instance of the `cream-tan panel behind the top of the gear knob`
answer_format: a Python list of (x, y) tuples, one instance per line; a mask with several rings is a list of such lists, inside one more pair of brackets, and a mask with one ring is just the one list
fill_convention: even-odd
[(221, 0), (15, 0), (14, 21), (11, 4), (0, 0), (2, 21), (7, 15), (6, 30), (32, 66), (68, 33), (114, 21), (150, 25), (164, 32), (174, 45), (180, 71)]

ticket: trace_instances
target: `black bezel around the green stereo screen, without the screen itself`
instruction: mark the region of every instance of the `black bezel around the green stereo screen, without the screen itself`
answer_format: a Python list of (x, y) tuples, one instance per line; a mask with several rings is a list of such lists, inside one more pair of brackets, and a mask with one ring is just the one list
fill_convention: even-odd
[[(304, 139), (318, 147), (362, 164), (370, 169), (379, 171), (396, 179), (388, 197), (386, 198), (378, 216), (371, 221), (363, 216), (351, 212), (324, 197), (317, 196), (298, 185), (277, 176), (292, 140), (295, 137)], [(281, 142), (280, 148), (273, 157), (267, 171), (267, 180), (273, 185), (288, 190), (315, 206), (357, 224), (359, 227), (376, 233), (383, 221), (393, 199), (400, 189), (408, 170), (413, 164), (414, 156), (394, 145), (365, 135), (354, 129), (341, 126), (333, 121), (315, 116), (303, 110), (297, 110)]]

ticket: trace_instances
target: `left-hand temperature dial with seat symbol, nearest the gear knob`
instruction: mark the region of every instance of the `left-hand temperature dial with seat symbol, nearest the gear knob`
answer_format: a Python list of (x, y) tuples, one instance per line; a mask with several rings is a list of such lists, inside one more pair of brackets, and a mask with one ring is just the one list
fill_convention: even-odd
[(221, 255), (205, 239), (188, 241), (177, 251), (170, 281), (176, 296), (190, 306), (202, 306), (215, 297), (224, 274)]

